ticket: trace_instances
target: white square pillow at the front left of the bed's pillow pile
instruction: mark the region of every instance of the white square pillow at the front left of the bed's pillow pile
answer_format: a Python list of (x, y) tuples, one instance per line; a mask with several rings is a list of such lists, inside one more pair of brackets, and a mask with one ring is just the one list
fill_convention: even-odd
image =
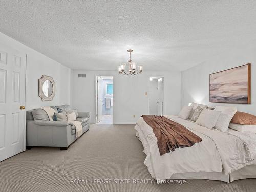
[(215, 126), (220, 114), (220, 111), (204, 109), (199, 115), (196, 123), (208, 129), (212, 129)]

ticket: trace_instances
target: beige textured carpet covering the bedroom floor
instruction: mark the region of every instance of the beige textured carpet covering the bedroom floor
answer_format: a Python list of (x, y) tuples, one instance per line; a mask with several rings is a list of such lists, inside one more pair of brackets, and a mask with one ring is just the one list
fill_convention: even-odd
[[(256, 191), (256, 179), (233, 183), (114, 184), (114, 179), (152, 179), (134, 125), (92, 125), (67, 151), (34, 147), (0, 163), (0, 191)], [(87, 179), (89, 184), (73, 184)], [(93, 184), (90, 179), (112, 179)]]

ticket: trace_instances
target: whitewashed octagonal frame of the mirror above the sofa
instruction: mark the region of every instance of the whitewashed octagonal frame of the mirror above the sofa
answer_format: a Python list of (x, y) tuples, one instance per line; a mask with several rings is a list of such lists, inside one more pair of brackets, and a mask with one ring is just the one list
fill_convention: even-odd
[[(50, 95), (49, 97), (45, 96), (45, 94), (42, 92), (42, 84), (44, 84), (46, 80), (49, 80), (52, 83), (52, 87), (53, 87), (52, 95)], [(55, 96), (55, 82), (52, 77), (47, 75), (42, 75), (42, 77), (38, 79), (38, 96), (41, 97), (42, 101), (53, 100), (53, 97)]]

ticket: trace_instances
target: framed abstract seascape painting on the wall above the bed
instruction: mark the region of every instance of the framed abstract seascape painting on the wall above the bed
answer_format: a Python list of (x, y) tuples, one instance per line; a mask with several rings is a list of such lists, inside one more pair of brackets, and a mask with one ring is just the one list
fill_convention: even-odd
[(210, 74), (210, 102), (250, 103), (250, 64)]

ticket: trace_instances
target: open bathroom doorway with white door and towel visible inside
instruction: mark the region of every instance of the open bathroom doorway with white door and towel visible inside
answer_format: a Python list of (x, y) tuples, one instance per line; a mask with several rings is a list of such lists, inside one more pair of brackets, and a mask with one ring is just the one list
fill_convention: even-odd
[(96, 123), (113, 124), (113, 76), (97, 76)]

